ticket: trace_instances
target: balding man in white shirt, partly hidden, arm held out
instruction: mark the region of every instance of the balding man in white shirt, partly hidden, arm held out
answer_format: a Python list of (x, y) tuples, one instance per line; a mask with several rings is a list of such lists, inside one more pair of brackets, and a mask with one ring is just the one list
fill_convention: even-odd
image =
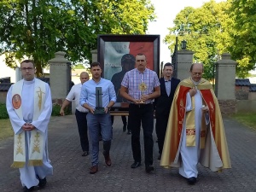
[(72, 102), (73, 100), (75, 101), (76, 105), (76, 119), (77, 119), (77, 124), (79, 128), (79, 137), (80, 137), (80, 143), (81, 147), (83, 150), (82, 156), (87, 156), (89, 154), (89, 142), (88, 142), (88, 134), (87, 134), (87, 120), (86, 120), (86, 115), (88, 113), (88, 109), (83, 108), (79, 104), (79, 99), (80, 99), (80, 93), (81, 93), (81, 88), (84, 82), (89, 80), (89, 74), (86, 72), (83, 72), (80, 74), (80, 84), (75, 84), (69, 91), (67, 98), (63, 102), (61, 106), (61, 115), (64, 115), (64, 109)]

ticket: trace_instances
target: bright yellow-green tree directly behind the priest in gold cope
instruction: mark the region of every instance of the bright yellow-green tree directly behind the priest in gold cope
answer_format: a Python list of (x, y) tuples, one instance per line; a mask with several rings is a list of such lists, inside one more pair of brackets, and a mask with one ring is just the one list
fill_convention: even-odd
[(229, 3), (213, 0), (198, 9), (186, 7), (177, 14), (173, 21), (175, 26), (169, 28), (170, 34), (165, 38), (170, 48), (174, 47), (176, 33), (179, 41), (185, 39), (188, 49), (195, 52), (194, 61), (204, 63), (206, 79), (214, 78), (214, 63), (227, 51), (224, 44), (229, 44), (229, 38), (223, 23), (228, 18), (225, 14), (228, 8)]

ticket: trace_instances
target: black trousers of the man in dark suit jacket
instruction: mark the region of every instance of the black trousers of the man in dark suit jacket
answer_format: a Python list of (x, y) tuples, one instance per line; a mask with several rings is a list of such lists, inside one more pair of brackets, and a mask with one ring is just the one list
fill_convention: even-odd
[(162, 150), (164, 147), (168, 118), (169, 118), (169, 114), (156, 113), (155, 132), (157, 135), (159, 154), (162, 154)]

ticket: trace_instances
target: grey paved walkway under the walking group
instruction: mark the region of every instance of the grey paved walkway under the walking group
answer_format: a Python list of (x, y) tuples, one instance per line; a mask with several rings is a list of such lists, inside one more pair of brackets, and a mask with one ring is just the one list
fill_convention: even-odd
[[(99, 172), (90, 175), (90, 157), (81, 156), (75, 117), (53, 117), (49, 124), (49, 157), (54, 166), (54, 176), (48, 177), (45, 189), (35, 191), (256, 191), (256, 131), (229, 118), (224, 118), (224, 126), (232, 169), (217, 173), (199, 166), (198, 182), (190, 186), (178, 175), (176, 168), (160, 167), (160, 160), (157, 160), (157, 143), (154, 143), (155, 172), (147, 174), (144, 166), (131, 169), (131, 135), (122, 131), (120, 117), (115, 117), (113, 125), (113, 166), (105, 166), (103, 155), (100, 153)], [(100, 144), (102, 150), (102, 143)], [(22, 191), (19, 171), (9, 167), (12, 160), (13, 139), (0, 141), (1, 192)]]

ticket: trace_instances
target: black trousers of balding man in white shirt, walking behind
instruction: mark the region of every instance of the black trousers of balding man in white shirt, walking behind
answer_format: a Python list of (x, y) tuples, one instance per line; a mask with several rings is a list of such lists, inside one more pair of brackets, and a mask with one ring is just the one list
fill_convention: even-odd
[(77, 124), (79, 128), (79, 137), (80, 137), (80, 144), (81, 144), (82, 150), (89, 151), (87, 120), (86, 120), (87, 113), (79, 112), (79, 110), (76, 109), (75, 115), (76, 115)]

